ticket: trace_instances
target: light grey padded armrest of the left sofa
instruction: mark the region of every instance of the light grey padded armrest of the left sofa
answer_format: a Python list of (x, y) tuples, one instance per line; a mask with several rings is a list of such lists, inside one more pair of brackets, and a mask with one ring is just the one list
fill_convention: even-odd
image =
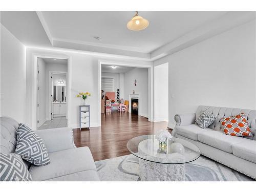
[(37, 130), (36, 134), (45, 142), (48, 153), (76, 147), (73, 139), (73, 131), (68, 127)]

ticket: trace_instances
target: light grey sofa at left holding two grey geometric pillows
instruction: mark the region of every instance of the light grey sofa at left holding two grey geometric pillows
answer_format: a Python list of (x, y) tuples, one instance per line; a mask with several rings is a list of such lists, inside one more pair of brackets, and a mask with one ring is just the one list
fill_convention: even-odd
[[(1, 153), (14, 153), (19, 124), (10, 117), (1, 117), (0, 121)], [(51, 162), (35, 166), (24, 160), (33, 181), (99, 181), (89, 147), (75, 146), (72, 129), (38, 130), (36, 134), (44, 140)]]

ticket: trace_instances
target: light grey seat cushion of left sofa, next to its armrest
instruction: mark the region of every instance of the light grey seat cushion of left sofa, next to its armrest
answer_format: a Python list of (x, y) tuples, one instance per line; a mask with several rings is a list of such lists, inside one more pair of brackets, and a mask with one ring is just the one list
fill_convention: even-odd
[(96, 170), (96, 166), (88, 147), (72, 148), (49, 153), (51, 163), (46, 166), (32, 165), (29, 172), (33, 181), (45, 181), (67, 176), (84, 170)]

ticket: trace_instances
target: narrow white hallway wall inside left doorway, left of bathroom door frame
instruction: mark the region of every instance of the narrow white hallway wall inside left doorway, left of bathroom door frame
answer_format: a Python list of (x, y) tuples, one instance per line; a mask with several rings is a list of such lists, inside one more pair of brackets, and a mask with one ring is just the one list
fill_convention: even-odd
[(37, 126), (41, 126), (43, 123), (46, 121), (46, 115), (47, 115), (47, 100), (46, 98), (46, 86), (47, 86), (47, 81), (46, 81), (46, 62), (42, 60), (41, 58), (37, 58), (37, 70), (39, 70), (38, 78), (39, 78), (39, 90), (38, 90), (38, 104), (39, 108), (37, 111), (37, 119), (38, 119), (38, 124)]

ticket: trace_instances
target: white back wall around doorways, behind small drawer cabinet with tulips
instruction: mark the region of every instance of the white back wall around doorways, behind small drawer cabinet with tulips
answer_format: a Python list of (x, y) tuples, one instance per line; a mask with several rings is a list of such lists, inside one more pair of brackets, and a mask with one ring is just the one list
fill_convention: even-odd
[[(69, 66), (71, 92), (68, 99), (68, 126), (72, 128), (79, 127), (78, 106), (82, 103), (76, 94), (81, 91), (88, 91), (92, 96), (88, 99), (91, 105), (91, 126), (100, 126), (100, 93), (99, 93), (99, 60), (109, 61), (111, 63), (134, 63), (137, 66), (152, 66), (149, 61), (128, 60), (125, 58), (100, 57), (88, 54), (68, 51), (68, 50), (45, 50), (45, 49), (27, 49), (27, 65), (26, 65), (26, 122), (32, 129), (35, 129), (34, 110), (35, 110), (35, 56), (46, 56), (55, 58), (70, 58)], [(69, 90), (67, 90), (67, 94)]]

